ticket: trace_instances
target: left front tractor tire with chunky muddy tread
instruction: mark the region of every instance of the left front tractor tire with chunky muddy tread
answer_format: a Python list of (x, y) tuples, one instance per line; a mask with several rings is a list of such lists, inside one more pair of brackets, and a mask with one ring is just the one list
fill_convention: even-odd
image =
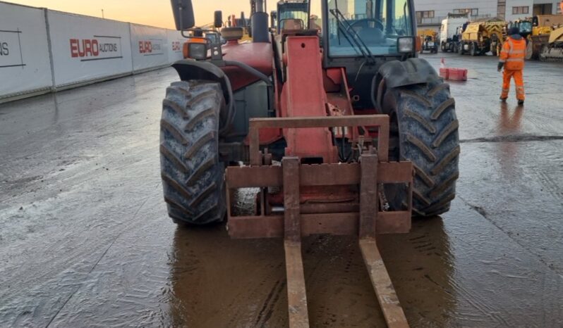
[(160, 167), (168, 215), (177, 224), (224, 220), (224, 164), (219, 161), (219, 83), (173, 82), (162, 102)]

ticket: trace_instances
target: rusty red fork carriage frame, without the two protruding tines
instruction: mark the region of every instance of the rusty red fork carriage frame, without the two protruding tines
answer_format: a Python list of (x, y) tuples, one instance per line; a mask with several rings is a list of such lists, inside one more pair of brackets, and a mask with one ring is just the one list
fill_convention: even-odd
[[(297, 165), (293, 179), (298, 186), (288, 191), (285, 177), (286, 166), (264, 165), (265, 156), (259, 148), (259, 131), (263, 128), (308, 128), (356, 127), (359, 125), (379, 127), (376, 152), (363, 155), (366, 163), (332, 163), (320, 165)], [(389, 117), (387, 115), (357, 115), (320, 118), (254, 118), (250, 120), (250, 166), (226, 169), (226, 187), (230, 199), (233, 189), (262, 188), (259, 215), (235, 216), (228, 206), (229, 234), (234, 238), (268, 238), (284, 236), (284, 215), (268, 215), (265, 210), (266, 187), (283, 187), (284, 203), (291, 195), (299, 196), (299, 189), (322, 186), (360, 186), (359, 201), (342, 203), (303, 204), (298, 220), (298, 234), (361, 234), (368, 232), (399, 233), (411, 228), (413, 166), (410, 162), (388, 162)], [(375, 156), (375, 157), (374, 157)], [(375, 159), (374, 159), (375, 158)], [(286, 158), (284, 158), (285, 160)], [(293, 162), (291, 162), (293, 163)], [(293, 171), (293, 169), (292, 169)], [(368, 179), (363, 182), (362, 179)], [(363, 183), (362, 183), (363, 182)], [(406, 210), (380, 211), (377, 205), (377, 185), (408, 184)], [(293, 185), (293, 184), (292, 184)], [(363, 204), (363, 205), (362, 205)], [(367, 208), (366, 208), (367, 206)], [(323, 209), (322, 209), (323, 208)], [(364, 217), (364, 219), (362, 219)], [(372, 220), (368, 226), (360, 222)], [(293, 215), (293, 220), (295, 216)], [(366, 221), (367, 222), (367, 221)]]

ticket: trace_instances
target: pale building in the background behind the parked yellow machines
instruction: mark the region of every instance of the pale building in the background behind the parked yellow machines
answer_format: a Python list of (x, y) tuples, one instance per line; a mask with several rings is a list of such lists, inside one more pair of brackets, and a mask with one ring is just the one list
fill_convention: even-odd
[(561, 13), (560, 0), (414, 0), (418, 26), (440, 27), (448, 13), (470, 13), (471, 20), (511, 21), (533, 15)]

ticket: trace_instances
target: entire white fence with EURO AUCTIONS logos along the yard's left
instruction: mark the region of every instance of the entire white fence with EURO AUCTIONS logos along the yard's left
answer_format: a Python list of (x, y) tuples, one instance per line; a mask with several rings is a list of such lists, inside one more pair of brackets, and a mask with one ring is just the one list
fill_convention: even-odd
[(177, 31), (0, 1), (0, 103), (160, 68)]

